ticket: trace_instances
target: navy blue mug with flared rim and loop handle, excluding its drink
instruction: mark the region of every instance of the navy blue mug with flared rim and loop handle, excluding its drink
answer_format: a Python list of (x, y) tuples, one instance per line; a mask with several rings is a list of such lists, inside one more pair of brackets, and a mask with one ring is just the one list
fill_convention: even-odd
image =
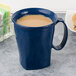
[[(16, 23), (24, 15), (44, 15), (53, 23), (42, 27), (28, 27)], [(43, 8), (27, 8), (17, 11), (12, 15), (16, 40), (19, 48), (20, 63), (27, 70), (41, 69), (50, 66), (51, 49), (61, 50), (66, 44), (68, 30), (63, 19), (58, 18), (50, 10)], [(64, 24), (64, 36), (60, 45), (53, 45), (55, 25)]]

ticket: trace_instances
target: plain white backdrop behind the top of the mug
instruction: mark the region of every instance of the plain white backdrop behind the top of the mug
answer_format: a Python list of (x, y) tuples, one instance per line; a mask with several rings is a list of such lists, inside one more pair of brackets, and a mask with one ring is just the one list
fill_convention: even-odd
[(76, 9), (75, 0), (0, 0), (11, 6), (12, 12), (27, 7), (43, 7), (52, 11), (66, 11)]

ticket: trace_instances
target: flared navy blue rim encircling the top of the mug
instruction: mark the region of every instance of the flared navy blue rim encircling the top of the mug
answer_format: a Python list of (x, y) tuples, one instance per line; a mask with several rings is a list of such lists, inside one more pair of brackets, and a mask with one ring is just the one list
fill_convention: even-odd
[[(12, 15), (12, 18), (11, 18), (12, 22), (13, 22), (15, 25), (18, 25), (18, 26), (20, 26), (20, 27), (30, 28), (30, 29), (32, 29), (32, 28), (46, 28), (46, 27), (49, 27), (50, 25), (53, 25), (54, 23), (57, 22), (57, 19), (56, 19), (56, 20), (53, 21), (51, 24), (48, 24), (48, 25), (45, 25), (45, 26), (40, 26), (40, 27), (29, 27), (29, 26), (23, 26), (23, 25), (18, 24), (13, 18), (15, 17), (15, 15), (16, 15), (18, 12), (23, 11), (23, 10), (28, 10), (28, 9), (38, 9), (38, 10), (41, 9), (41, 10), (46, 10), (46, 11), (52, 12), (52, 13), (56, 16), (56, 18), (58, 19), (57, 15), (56, 15), (53, 11), (51, 11), (51, 10), (49, 10), (49, 9), (45, 9), (45, 8), (24, 8), (24, 9), (21, 9), (21, 10), (16, 11), (16, 12)], [(51, 18), (50, 18), (50, 19), (51, 19)]]

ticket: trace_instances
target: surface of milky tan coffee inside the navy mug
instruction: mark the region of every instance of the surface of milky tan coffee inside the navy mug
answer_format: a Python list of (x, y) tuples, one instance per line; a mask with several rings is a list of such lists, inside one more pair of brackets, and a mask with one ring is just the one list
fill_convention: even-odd
[(17, 23), (23, 26), (40, 27), (52, 23), (52, 20), (43, 15), (27, 15), (19, 18)]

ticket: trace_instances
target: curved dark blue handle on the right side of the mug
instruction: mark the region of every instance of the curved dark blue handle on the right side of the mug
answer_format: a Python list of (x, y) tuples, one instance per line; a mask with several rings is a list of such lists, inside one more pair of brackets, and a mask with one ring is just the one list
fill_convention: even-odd
[(59, 23), (59, 22), (62, 22), (64, 24), (64, 36), (63, 36), (62, 42), (59, 45), (57, 45), (57, 46), (53, 45), (53, 48), (55, 50), (61, 50), (65, 46), (67, 38), (68, 38), (68, 29), (67, 29), (67, 26), (66, 26), (64, 20), (62, 18), (58, 18), (57, 21), (56, 21), (56, 24)]

